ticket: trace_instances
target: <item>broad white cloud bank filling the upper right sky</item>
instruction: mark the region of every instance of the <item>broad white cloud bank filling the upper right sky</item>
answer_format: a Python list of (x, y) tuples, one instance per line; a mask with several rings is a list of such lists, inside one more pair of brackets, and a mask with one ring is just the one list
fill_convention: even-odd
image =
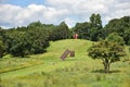
[[(47, 0), (56, 9), (69, 9), (72, 15), (79, 21), (89, 17), (92, 13), (100, 13), (105, 23), (112, 18), (130, 15), (130, 0)], [(88, 20), (88, 18), (87, 18)], [(75, 21), (75, 20), (74, 20)]]

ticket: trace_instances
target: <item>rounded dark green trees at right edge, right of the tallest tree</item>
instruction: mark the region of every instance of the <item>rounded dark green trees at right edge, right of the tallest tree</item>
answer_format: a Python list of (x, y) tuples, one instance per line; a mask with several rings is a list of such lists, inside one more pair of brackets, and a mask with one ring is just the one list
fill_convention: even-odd
[(130, 16), (114, 18), (108, 22), (104, 29), (105, 37), (107, 37), (108, 34), (117, 33), (123, 38), (126, 45), (130, 45)]

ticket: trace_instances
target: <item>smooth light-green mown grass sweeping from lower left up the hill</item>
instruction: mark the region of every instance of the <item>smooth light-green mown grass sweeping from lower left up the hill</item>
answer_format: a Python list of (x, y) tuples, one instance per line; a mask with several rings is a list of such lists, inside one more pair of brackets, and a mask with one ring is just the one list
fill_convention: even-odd
[[(41, 63), (36, 65), (29, 65), (29, 66), (25, 65), (25, 67), (22, 67), (22, 69), (20, 66), (18, 70), (1, 73), (0, 77), (2, 79), (4, 78), (8, 79), (12, 77), (25, 76), (25, 75), (37, 73), (37, 72), (52, 72), (57, 69), (72, 66), (75, 64), (76, 61), (79, 61), (79, 60), (83, 61), (87, 58), (87, 49), (91, 45), (92, 45), (91, 41), (79, 40), (79, 39), (67, 39), (67, 40), (60, 40), (55, 42), (51, 41), (50, 47), (47, 49), (47, 53), (30, 55), (29, 58), (23, 59), (23, 60), (38, 59), (38, 61), (40, 60)], [(66, 49), (74, 50), (76, 53), (76, 57), (75, 58), (68, 57), (66, 61), (62, 61), (60, 57)], [(35, 61), (37, 62), (37, 60)]]

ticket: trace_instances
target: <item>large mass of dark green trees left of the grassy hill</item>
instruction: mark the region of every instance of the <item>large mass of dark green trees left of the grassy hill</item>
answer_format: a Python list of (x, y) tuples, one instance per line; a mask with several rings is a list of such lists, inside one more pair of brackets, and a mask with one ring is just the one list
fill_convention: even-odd
[(0, 38), (5, 44), (5, 52), (12, 55), (36, 54), (46, 52), (50, 40), (66, 39), (69, 36), (68, 26), (62, 22), (58, 26), (32, 22), (27, 27), (1, 29)]

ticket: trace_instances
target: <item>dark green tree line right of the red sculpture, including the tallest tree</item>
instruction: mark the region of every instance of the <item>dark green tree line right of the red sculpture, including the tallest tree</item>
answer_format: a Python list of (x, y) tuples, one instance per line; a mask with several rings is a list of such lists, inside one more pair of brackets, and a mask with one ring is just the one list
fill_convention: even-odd
[(109, 34), (117, 33), (123, 38), (126, 45), (130, 45), (130, 16), (110, 20), (103, 27), (101, 15), (92, 14), (90, 22), (77, 23), (74, 32), (79, 35), (79, 38), (92, 41), (105, 39)]

